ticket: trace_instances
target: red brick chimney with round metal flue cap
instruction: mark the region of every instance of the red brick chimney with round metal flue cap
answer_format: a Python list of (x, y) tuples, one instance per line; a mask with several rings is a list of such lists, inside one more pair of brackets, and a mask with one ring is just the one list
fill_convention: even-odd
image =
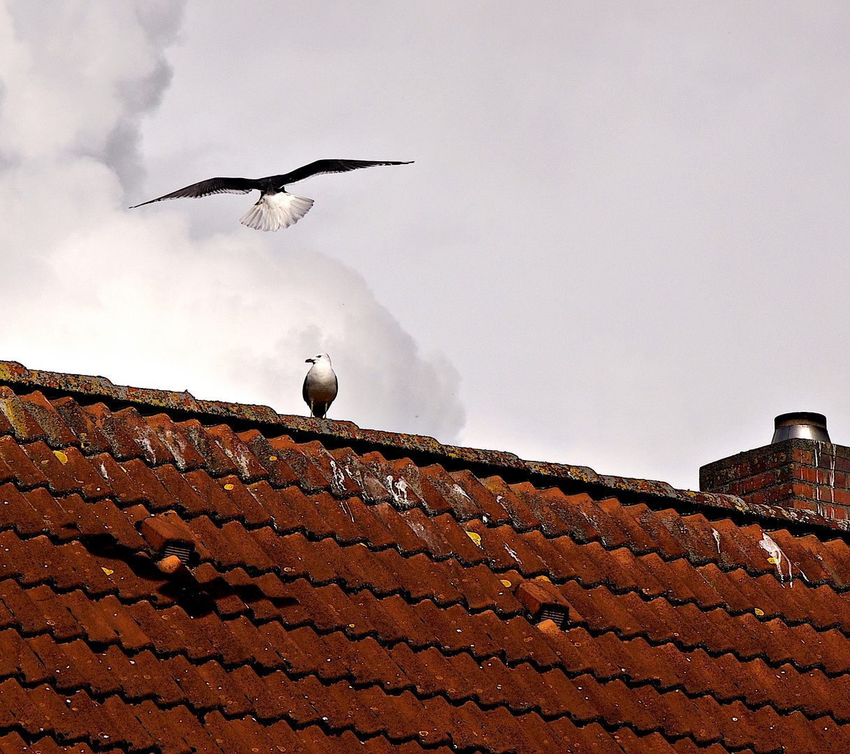
[(823, 414), (782, 414), (770, 445), (700, 468), (700, 490), (850, 519), (850, 448), (830, 442)]

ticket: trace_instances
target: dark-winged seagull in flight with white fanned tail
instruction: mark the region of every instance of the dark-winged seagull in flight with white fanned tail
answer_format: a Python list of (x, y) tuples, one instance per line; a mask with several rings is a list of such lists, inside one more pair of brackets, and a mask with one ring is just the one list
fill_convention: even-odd
[[(411, 160), (411, 162), (413, 162)], [(313, 200), (303, 196), (289, 194), (284, 189), (289, 184), (297, 183), (311, 175), (320, 173), (348, 173), (349, 170), (357, 170), (359, 167), (372, 167), (374, 165), (410, 165), (411, 162), (375, 162), (371, 160), (316, 160), (309, 165), (293, 170), (292, 173), (282, 175), (269, 175), (265, 178), (211, 178), (201, 181), (199, 184), (191, 184), (184, 189), (172, 191), (165, 196), (159, 196), (150, 201), (143, 201), (135, 207), (144, 207), (154, 201), (163, 199), (181, 199), (191, 197), (196, 199), (200, 196), (211, 194), (248, 194), (257, 189), (260, 198), (239, 221), (249, 228), (256, 230), (278, 230), (281, 226), (288, 228), (294, 225), (309, 212), (313, 207)]]

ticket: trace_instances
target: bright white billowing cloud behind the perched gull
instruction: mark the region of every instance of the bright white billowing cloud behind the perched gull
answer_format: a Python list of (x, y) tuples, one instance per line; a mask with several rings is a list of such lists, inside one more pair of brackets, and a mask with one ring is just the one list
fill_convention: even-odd
[(199, 238), (178, 206), (127, 212), (181, 14), (0, 5), (0, 358), (300, 413), (303, 359), (326, 350), (332, 418), (455, 439), (457, 372), (423, 357), (352, 269), (275, 251), (235, 219)]

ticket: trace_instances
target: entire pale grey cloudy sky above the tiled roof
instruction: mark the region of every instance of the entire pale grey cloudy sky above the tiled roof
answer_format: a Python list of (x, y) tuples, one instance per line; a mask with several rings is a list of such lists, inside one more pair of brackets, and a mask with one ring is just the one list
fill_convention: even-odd
[[(695, 488), (850, 445), (847, 3), (5, 3), (0, 359)], [(252, 196), (325, 157), (297, 225)]]

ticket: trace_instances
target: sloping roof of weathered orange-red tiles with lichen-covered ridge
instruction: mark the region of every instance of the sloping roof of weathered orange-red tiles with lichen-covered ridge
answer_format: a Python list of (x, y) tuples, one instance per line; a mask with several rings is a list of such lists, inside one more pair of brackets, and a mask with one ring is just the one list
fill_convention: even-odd
[(0, 752), (850, 751), (846, 535), (573, 468), (0, 363)]

